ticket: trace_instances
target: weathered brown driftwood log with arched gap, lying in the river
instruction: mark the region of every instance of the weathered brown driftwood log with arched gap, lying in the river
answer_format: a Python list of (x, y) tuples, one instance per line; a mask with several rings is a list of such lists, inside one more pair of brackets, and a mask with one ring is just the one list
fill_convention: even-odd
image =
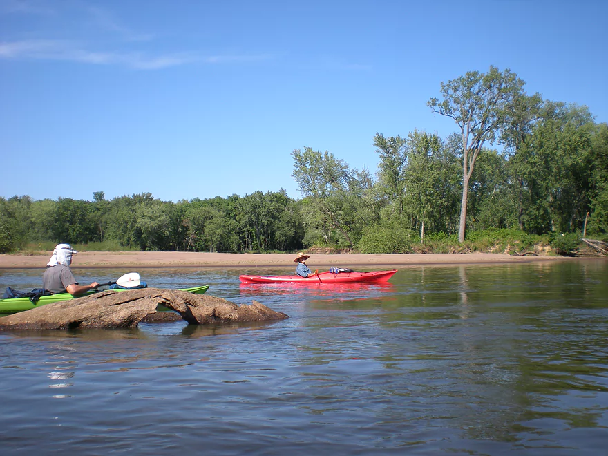
[(108, 290), (0, 318), (0, 330), (70, 330), (75, 328), (136, 327), (140, 321), (158, 319), (158, 305), (178, 312), (191, 325), (241, 321), (273, 321), (289, 318), (253, 301), (236, 305), (207, 294), (177, 289), (141, 288)]

